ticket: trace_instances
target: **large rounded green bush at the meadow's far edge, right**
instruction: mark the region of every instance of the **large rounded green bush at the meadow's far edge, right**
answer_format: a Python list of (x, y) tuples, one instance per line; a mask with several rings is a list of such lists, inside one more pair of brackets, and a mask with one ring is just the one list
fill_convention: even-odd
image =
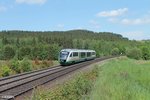
[(138, 48), (128, 49), (126, 51), (126, 55), (129, 58), (139, 60), (139, 59), (142, 58), (142, 51), (140, 49), (138, 49)]

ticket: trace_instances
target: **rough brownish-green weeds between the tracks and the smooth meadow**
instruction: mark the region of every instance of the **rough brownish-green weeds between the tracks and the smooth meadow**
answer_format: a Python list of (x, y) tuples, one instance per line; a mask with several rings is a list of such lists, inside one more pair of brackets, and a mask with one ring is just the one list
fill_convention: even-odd
[(97, 74), (95, 67), (92, 71), (78, 73), (74, 78), (53, 89), (35, 89), (31, 100), (86, 100)]

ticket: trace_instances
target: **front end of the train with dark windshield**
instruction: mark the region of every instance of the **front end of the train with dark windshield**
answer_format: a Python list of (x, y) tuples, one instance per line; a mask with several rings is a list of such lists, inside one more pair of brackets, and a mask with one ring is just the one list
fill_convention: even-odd
[(59, 54), (59, 63), (61, 65), (66, 65), (67, 64), (67, 58), (68, 58), (69, 52), (68, 51), (60, 51)]

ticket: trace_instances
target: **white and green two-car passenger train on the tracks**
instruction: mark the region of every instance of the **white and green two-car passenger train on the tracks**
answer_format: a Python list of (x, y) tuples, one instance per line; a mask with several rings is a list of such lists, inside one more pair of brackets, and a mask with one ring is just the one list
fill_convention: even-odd
[(93, 60), (96, 58), (95, 50), (62, 49), (58, 61), (60, 65), (71, 65), (78, 62)]

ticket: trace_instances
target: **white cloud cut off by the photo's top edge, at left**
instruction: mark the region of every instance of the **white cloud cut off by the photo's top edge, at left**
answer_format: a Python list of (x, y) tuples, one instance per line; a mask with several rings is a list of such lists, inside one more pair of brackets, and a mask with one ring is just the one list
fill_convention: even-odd
[(16, 0), (16, 3), (22, 4), (44, 4), (47, 0)]

